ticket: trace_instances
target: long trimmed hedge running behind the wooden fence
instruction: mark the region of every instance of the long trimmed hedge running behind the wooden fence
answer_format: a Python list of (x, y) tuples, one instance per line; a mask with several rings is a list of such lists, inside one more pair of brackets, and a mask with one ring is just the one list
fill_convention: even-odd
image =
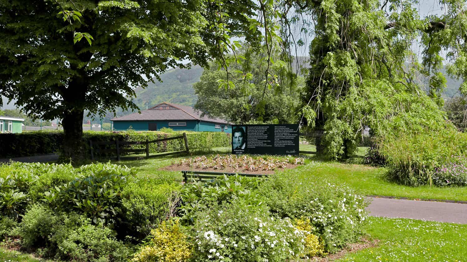
[[(179, 136), (184, 132), (83, 132), (83, 147), (89, 157), (89, 141), (146, 141), (167, 137)], [(210, 149), (216, 147), (229, 147), (230, 134), (221, 132), (185, 132), (190, 149)], [(59, 153), (63, 143), (63, 131), (33, 131), (19, 134), (0, 134), (0, 158), (44, 155)], [(122, 148), (144, 148), (144, 145), (123, 146)], [(183, 140), (170, 140), (153, 143), (149, 146), (150, 153), (170, 152), (184, 150)], [(97, 148), (97, 147), (96, 147)], [(107, 146), (115, 148), (115, 146)], [(110, 154), (96, 154), (96, 156), (110, 156)]]

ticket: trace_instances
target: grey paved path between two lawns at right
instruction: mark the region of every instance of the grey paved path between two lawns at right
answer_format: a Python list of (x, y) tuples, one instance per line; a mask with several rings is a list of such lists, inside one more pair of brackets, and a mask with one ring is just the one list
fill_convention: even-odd
[(372, 216), (467, 224), (467, 204), (375, 197), (370, 199), (372, 201), (367, 210)]

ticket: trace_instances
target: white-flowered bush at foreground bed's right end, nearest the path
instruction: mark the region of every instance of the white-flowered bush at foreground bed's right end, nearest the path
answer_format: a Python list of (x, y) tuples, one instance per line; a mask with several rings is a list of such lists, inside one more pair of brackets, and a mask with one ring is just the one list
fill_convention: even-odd
[(285, 218), (308, 219), (312, 234), (323, 241), (326, 252), (334, 252), (359, 240), (368, 205), (349, 188), (314, 183), (292, 172), (273, 175), (258, 188), (269, 210)]

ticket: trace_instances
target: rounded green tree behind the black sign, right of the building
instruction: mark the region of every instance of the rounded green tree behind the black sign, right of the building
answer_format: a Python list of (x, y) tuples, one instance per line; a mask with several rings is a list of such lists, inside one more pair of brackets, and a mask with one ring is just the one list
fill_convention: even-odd
[[(243, 53), (246, 60), (232, 64), (228, 68), (230, 72), (212, 69), (215, 68), (213, 65), (206, 69), (200, 81), (193, 85), (198, 94), (195, 108), (210, 117), (238, 124), (296, 122), (294, 110), (304, 86), (303, 78), (297, 79), (296, 74), (288, 71), (284, 61), (277, 60), (269, 69), (270, 74), (276, 75), (275, 87), (265, 87), (267, 60), (260, 53), (263, 51), (247, 50)], [(233, 86), (219, 87), (219, 81), (226, 79), (232, 81)]]

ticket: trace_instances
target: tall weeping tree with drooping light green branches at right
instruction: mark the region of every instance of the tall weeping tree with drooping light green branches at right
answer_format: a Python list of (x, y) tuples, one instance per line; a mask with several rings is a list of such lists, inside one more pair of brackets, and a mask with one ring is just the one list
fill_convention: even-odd
[[(353, 155), (366, 126), (382, 135), (396, 132), (389, 130), (396, 126), (404, 132), (444, 122), (439, 106), (446, 79), (439, 68), (451, 63), (448, 72), (466, 76), (466, 4), (440, 1), (443, 14), (420, 17), (416, 3), (296, 3), (299, 13), (311, 17), (314, 37), (302, 113), (309, 126), (325, 130), (322, 143), (329, 158)], [(422, 50), (421, 62), (414, 43)], [(388, 121), (405, 113), (423, 116)]]

